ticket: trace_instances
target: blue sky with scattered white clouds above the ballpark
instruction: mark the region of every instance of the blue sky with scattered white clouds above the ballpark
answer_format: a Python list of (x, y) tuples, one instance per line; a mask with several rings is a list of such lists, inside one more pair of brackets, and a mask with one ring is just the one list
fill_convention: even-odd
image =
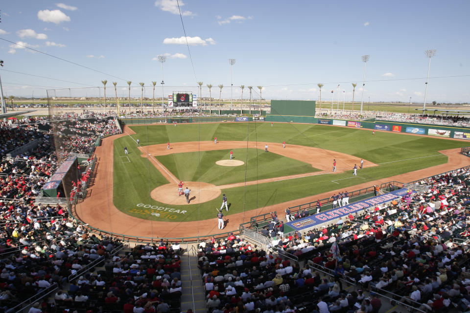
[[(91, 96), (97, 88), (76, 88), (102, 86), (104, 79), (111, 87), (112, 81), (118, 86), (132, 81), (133, 96), (140, 96), (139, 82), (151, 86), (157, 81), (160, 95), (161, 64), (153, 59), (161, 54), (168, 56), (165, 95), (173, 90), (196, 92), (196, 81), (203, 81), (214, 86), (213, 97), (219, 95), (219, 84), (225, 86), (222, 97), (230, 97), (229, 58), (236, 59), (234, 86), (263, 86), (267, 99), (317, 100), (317, 83), (324, 83), (322, 100), (331, 100), (338, 84), (351, 100), (355, 82), (355, 100), (360, 101), (363, 54), (371, 55), (364, 97), (372, 101), (411, 97), (423, 102), (426, 49), (437, 49), (431, 77), (470, 75), (470, 2), (464, 0), (179, 1), (194, 71), (176, 0), (2, 4), (0, 38), (106, 73), (0, 40), (5, 63), (0, 74), (7, 95), (29, 97), (34, 92), (39, 97), (55, 88), (57, 96)], [(427, 102), (469, 102), (469, 83), (470, 76), (432, 78)], [(256, 91), (254, 98), (259, 97)], [(240, 97), (240, 88), (233, 92)], [(145, 95), (151, 93), (146, 87)], [(127, 94), (127, 89), (119, 88), (118, 94)], [(243, 97), (248, 97), (247, 89)]]

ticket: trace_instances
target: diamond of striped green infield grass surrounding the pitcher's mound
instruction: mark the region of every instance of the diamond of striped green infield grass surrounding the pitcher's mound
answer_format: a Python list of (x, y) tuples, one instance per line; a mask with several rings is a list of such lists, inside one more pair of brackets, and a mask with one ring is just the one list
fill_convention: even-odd
[[(260, 147), (262, 148), (262, 147)], [(177, 153), (156, 158), (178, 179), (225, 185), (257, 179), (318, 172), (310, 164), (260, 149), (234, 149), (234, 158), (245, 162), (240, 166), (222, 166), (218, 160), (228, 159), (230, 150)], [(257, 170), (258, 169), (258, 170)], [(246, 172), (246, 173), (245, 173)]]

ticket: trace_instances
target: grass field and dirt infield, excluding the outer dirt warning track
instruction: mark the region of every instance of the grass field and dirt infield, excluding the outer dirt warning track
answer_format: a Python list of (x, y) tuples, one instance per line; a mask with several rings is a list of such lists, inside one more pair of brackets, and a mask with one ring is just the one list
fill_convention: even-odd
[[(264, 151), (265, 145), (269, 152)], [(131, 126), (114, 140), (113, 203), (140, 219), (202, 221), (215, 217), (226, 194), (227, 218), (241, 212), (250, 217), (266, 206), (331, 190), (354, 190), (354, 185), (444, 164), (448, 156), (440, 151), (466, 145), (441, 138), (390, 132), (373, 135), (368, 130), (306, 124)], [(227, 166), (233, 165), (228, 160), (230, 151), (234, 152), (232, 161), (241, 165)], [(359, 167), (361, 158), (364, 169), (353, 176), (352, 168), (354, 164)], [(335, 173), (331, 171), (333, 159)], [(189, 204), (178, 195), (180, 180), (191, 190)]]

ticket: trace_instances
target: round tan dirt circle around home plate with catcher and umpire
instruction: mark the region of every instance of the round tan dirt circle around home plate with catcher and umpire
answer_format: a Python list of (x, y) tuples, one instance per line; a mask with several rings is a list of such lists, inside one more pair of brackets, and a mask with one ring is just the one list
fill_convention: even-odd
[[(183, 190), (188, 187), (191, 192), (189, 193), (189, 204), (203, 203), (211, 201), (220, 196), (220, 189), (212, 184), (197, 181), (185, 181)], [(184, 195), (178, 196), (178, 184), (166, 184), (159, 186), (150, 192), (153, 200), (166, 204), (185, 205), (186, 197)]]

